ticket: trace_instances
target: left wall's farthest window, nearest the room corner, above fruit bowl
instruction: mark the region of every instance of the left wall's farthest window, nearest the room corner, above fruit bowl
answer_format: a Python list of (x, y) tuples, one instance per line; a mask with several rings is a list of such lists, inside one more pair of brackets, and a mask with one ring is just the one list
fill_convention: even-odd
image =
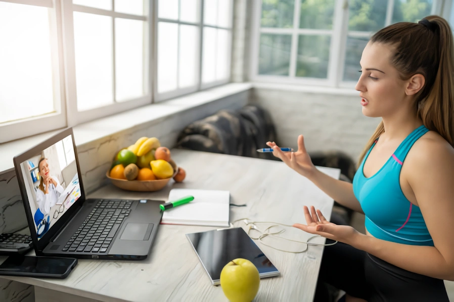
[(158, 100), (229, 81), (232, 0), (159, 0), (157, 19)]

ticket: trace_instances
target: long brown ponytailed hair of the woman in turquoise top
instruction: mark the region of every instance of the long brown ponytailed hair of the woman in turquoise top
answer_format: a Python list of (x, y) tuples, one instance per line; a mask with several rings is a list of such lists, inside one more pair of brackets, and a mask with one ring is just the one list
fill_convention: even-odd
[[(393, 47), (391, 64), (400, 73), (402, 80), (410, 79), (416, 74), (425, 77), (424, 87), (416, 94), (418, 117), (427, 129), (440, 134), (452, 146), (454, 59), (452, 32), (447, 21), (439, 16), (429, 16), (419, 23), (396, 23), (374, 34), (370, 42)], [(382, 121), (362, 150), (358, 165), (374, 141), (384, 132)]]

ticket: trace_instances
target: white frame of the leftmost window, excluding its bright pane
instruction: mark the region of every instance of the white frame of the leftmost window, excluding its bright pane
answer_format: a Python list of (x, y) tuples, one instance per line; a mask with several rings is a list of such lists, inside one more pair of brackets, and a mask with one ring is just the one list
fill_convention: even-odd
[(54, 112), (13, 120), (0, 124), (0, 144), (48, 132), (67, 125), (66, 101), (65, 101), (65, 82), (63, 80), (63, 45), (62, 30), (59, 26), (62, 16), (60, 1), (56, 0), (1, 0), (0, 2), (22, 4), (48, 8), (49, 10), (49, 30), (51, 42), (51, 61), (52, 61), (52, 82), (54, 94)]

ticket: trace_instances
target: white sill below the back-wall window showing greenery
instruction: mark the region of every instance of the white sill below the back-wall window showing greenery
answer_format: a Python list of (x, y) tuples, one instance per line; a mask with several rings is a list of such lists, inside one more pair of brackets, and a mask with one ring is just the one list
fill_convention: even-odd
[(323, 93), (332, 95), (351, 95), (358, 96), (359, 92), (354, 88), (335, 88), (335, 87), (324, 87), (324, 86), (312, 86), (312, 85), (298, 85), (298, 84), (273, 84), (273, 83), (262, 83), (253, 82), (253, 88), (258, 89), (270, 89), (270, 90), (283, 90), (283, 91), (296, 91), (296, 92), (307, 92), (307, 93)]

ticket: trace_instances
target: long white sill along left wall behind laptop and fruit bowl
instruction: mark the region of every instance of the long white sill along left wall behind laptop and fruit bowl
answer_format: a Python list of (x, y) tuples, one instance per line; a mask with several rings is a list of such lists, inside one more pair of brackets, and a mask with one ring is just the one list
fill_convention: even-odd
[[(128, 129), (140, 127), (140, 125), (144, 123), (160, 123), (165, 117), (177, 112), (203, 106), (204, 104), (208, 104), (223, 97), (247, 91), (251, 89), (251, 87), (251, 83), (230, 83), (220, 87), (199, 91), (171, 100), (103, 117), (98, 120), (94, 120), (93, 122), (77, 125), (73, 127), (76, 146), (120, 133)], [(14, 156), (30, 149), (60, 131), (61, 130), (50, 131), (0, 144), (0, 173), (14, 170)]]

